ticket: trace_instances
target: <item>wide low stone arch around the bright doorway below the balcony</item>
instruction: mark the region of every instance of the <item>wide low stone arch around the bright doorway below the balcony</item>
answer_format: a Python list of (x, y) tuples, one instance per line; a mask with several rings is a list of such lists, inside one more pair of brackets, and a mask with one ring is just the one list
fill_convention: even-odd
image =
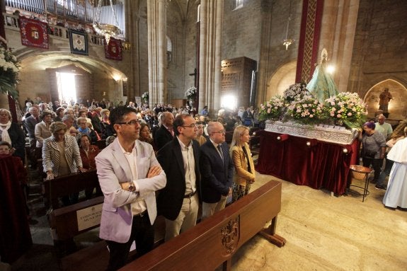
[[(74, 67), (86, 71), (86, 76), (78, 74), (81, 87), (81, 98), (102, 98), (111, 101), (123, 99), (122, 79), (127, 75), (111, 66), (108, 62), (91, 56), (80, 56), (69, 52), (25, 52), (18, 54), (21, 62), (20, 79), (17, 86), (20, 102), (26, 97), (40, 97), (50, 101), (55, 96), (55, 76), (52, 71), (62, 67)], [(79, 78), (78, 77), (78, 78)], [(54, 93), (54, 94), (52, 94)], [(107, 93), (107, 96), (105, 96)]]

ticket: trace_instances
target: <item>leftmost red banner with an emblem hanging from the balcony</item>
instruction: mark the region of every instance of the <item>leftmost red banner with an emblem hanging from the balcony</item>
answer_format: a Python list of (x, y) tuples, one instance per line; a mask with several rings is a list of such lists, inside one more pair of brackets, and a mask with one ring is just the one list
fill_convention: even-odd
[(21, 44), (48, 49), (47, 23), (20, 16)]

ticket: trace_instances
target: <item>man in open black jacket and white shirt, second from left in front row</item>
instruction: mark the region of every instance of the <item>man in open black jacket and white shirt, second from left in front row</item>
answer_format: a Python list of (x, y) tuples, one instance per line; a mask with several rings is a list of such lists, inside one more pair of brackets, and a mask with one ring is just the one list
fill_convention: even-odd
[(176, 137), (157, 154), (167, 177), (157, 200), (158, 213), (166, 219), (166, 241), (195, 226), (199, 207), (200, 146), (193, 140), (196, 123), (193, 117), (183, 114), (176, 117), (173, 127)]

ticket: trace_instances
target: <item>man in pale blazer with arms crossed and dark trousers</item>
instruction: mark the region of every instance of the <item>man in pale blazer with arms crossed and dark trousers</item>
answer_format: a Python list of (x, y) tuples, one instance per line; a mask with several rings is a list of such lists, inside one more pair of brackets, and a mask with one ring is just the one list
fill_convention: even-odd
[(133, 241), (138, 255), (153, 248), (155, 192), (166, 186), (166, 175), (152, 146), (137, 140), (140, 125), (133, 108), (113, 109), (110, 123), (117, 138), (96, 156), (105, 196), (99, 236), (110, 250), (107, 270), (117, 270), (125, 265)]

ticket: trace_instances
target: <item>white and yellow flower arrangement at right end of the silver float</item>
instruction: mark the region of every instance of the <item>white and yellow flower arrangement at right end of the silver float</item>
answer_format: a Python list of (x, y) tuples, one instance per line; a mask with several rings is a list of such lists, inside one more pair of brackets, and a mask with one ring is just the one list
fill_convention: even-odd
[(326, 114), (350, 128), (360, 127), (366, 120), (367, 105), (357, 93), (342, 92), (325, 100)]

